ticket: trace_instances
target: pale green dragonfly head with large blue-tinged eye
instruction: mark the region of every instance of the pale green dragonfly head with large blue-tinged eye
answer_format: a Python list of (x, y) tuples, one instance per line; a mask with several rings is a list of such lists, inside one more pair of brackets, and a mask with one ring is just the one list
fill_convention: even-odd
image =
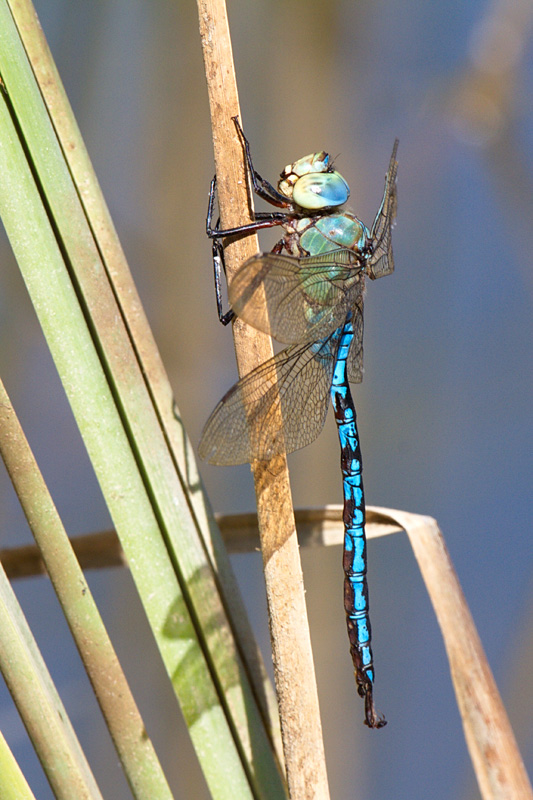
[(344, 205), (350, 187), (330, 161), (331, 156), (321, 150), (289, 164), (281, 173), (279, 191), (308, 211)]

